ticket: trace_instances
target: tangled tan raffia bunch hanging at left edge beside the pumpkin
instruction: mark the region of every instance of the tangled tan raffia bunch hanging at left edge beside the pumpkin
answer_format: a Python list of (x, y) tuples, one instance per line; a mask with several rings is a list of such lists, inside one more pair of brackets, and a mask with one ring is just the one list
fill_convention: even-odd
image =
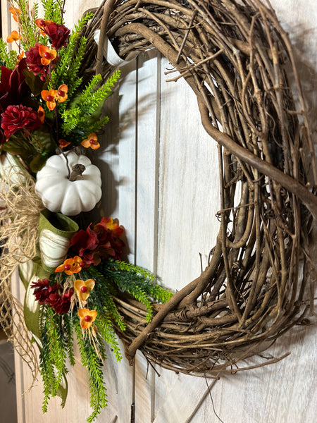
[(38, 371), (35, 348), (24, 321), (23, 305), (13, 297), (11, 278), (19, 264), (37, 255), (39, 212), (42, 201), (35, 193), (35, 181), (27, 172), (1, 159), (0, 178), (0, 325), (8, 340), (35, 376)]

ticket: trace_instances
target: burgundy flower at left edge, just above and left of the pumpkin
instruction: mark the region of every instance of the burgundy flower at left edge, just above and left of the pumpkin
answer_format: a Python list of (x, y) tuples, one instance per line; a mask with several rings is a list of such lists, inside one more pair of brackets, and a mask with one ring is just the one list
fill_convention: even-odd
[(11, 137), (16, 131), (23, 129), (30, 131), (42, 125), (37, 111), (20, 104), (20, 106), (8, 106), (1, 114), (1, 128), (6, 137)]

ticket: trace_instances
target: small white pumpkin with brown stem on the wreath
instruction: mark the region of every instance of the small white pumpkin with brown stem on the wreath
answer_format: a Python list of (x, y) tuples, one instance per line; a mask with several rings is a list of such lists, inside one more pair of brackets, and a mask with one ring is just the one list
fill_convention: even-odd
[[(63, 154), (51, 156), (45, 166), (37, 172), (35, 190), (46, 209), (75, 216), (89, 212), (101, 199), (101, 174), (86, 156), (67, 152), (68, 165)], [(68, 178), (73, 166), (85, 166), (75, 180)]]

